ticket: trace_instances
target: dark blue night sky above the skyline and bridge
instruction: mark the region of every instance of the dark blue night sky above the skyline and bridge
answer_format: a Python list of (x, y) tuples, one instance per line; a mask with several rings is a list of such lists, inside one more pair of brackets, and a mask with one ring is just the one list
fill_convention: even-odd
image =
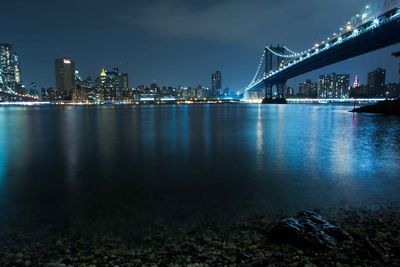
[[(1, 0), (0, 42), (20, 55), (25, 84), (53, 86), (54, 59), (69, 56), (81, 76), (102, 67), (129, 73), (130, 86), (210, 86), (215, 70), (223, 86), (252, 79), (265, 43), (304, 50), (336, 32), (361, 10), (362, 0)], [(289, 81), (295, 86), (320, 73), (359, 74), (376, 67), (398, 82), (400, 45), (354, 58)]]

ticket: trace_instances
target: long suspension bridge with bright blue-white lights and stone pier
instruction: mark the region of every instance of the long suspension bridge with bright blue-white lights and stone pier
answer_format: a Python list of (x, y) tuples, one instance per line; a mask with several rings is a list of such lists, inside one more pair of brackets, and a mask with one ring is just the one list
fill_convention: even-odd
[(339, 32), (305, 51), (267, 45), (254, 78), (238, 95), (265, 89), (264, 103), (286, 103), (287, 80), (398, 42), (400, 0), (376, 0), (351, 18)]

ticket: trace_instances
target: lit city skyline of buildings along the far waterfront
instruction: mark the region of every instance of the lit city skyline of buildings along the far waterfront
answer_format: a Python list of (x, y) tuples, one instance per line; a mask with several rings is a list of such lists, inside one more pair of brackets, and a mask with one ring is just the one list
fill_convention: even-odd
[[(118, 68), (106, 70), (102, 68), (99, 75), (92, 79), (90, 76), (82, 78), (72, 58), (58, 58), (54, 61), (54, 86), (43, 87), (37, 90), (37, 84), (32, 82), (29, 89), (22, 84), (19, 67), (19, 56), (13, 50), (12, 44), (0, 44), (0, 84), (14, 88), (17, 93), (29, 93), (31, 96), (41, 96), (42, 100), (58, 101), (140, 101), (141, 99), (180, 99), (204, 100), (212, 98), (235, 97), (228, 87), (222, 87), (222, 73), (215, 71), (211, 75), (211, 87), (202, 86), (158, 86), (152, 83), (150, 87), (140, 85), (129, 87), (127, 73), (121, 73)], [(394, 54), (393, 54), (394, 55)], [(380, 74), (382, 73), (382, 74)], [(367, 73), (366, 84), (360, 83), (359, 74), (354, 79), (357, 86), (350, 86), (350, 74), (325, 73), (320, 74), (318, 82), (311, 79), (299, 83), (298, 90), (287, 87), (285, 94), (291, 98), (333, 98), (343, 99), (351, 97), (398, 97), (399, 84), (386, 82), (386, 70), (377, 68)], [(306, 74), (308, 75), (308, 74)], [(304, 76), (304, 75), (303, 75)], [(11, 81), (11, 82), (10, 82)], [(40, 91), (40, 93), (39, 93)], [(263, 90), (247, 97), (262, 97)]]

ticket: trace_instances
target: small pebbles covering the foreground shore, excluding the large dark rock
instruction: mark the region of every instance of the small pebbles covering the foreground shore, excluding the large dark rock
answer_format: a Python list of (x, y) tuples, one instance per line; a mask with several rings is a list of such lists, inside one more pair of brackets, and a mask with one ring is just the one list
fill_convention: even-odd
[[(77, 235), (23, 236), (19, 243), (2, 238), (0, 266), (47, 267), (139, 267), (139, 266), (385, 266), (388, 263), (366, 253), (363, 236), (381, 244), (390, 253), (390, 264), (400, 266), (400, 209), (388, 214), (342, 210), (327, 215), (342, 227), (351, 240), (334, 250), (313, 251), (268, 242), (266, 233), (281, 218), (250, 217), (227, 224), (194, 226), (194, 229), (169, 233), (158, 227), (146, 235), (147, 243), (125, 243), (96, 233), (96, 238)], [(333, 218), (333, 219), (332, 219)], [(379, 220), (377, 219), (379, 218)], [(257, 230), (255, 230), (257, 229)], [(53, 236), (53, 239), (48, 239)], [(95, 236), (95, 235), (93, 235)], [(5, 242), (3, 242), (5, 240)], [(31, 240), (31, 241), (30, 241)], [(37, 240), (41, 240), (40, 243)], [(3, 245), (4, 243), (4, 245)], [(54, 244), (56, 246), (54, 246)], [(46, 264), (47, 263), (47, 264)]]

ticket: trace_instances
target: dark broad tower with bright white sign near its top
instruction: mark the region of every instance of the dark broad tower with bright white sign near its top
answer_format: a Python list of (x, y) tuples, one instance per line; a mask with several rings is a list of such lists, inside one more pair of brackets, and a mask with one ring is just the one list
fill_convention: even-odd
[(63, 99), (71, 99), (72, 93), (76, 90), (76, 69), (75, 62), (70, 58), (56, 59), (54, 62), (55, 90), (58, 91)]

